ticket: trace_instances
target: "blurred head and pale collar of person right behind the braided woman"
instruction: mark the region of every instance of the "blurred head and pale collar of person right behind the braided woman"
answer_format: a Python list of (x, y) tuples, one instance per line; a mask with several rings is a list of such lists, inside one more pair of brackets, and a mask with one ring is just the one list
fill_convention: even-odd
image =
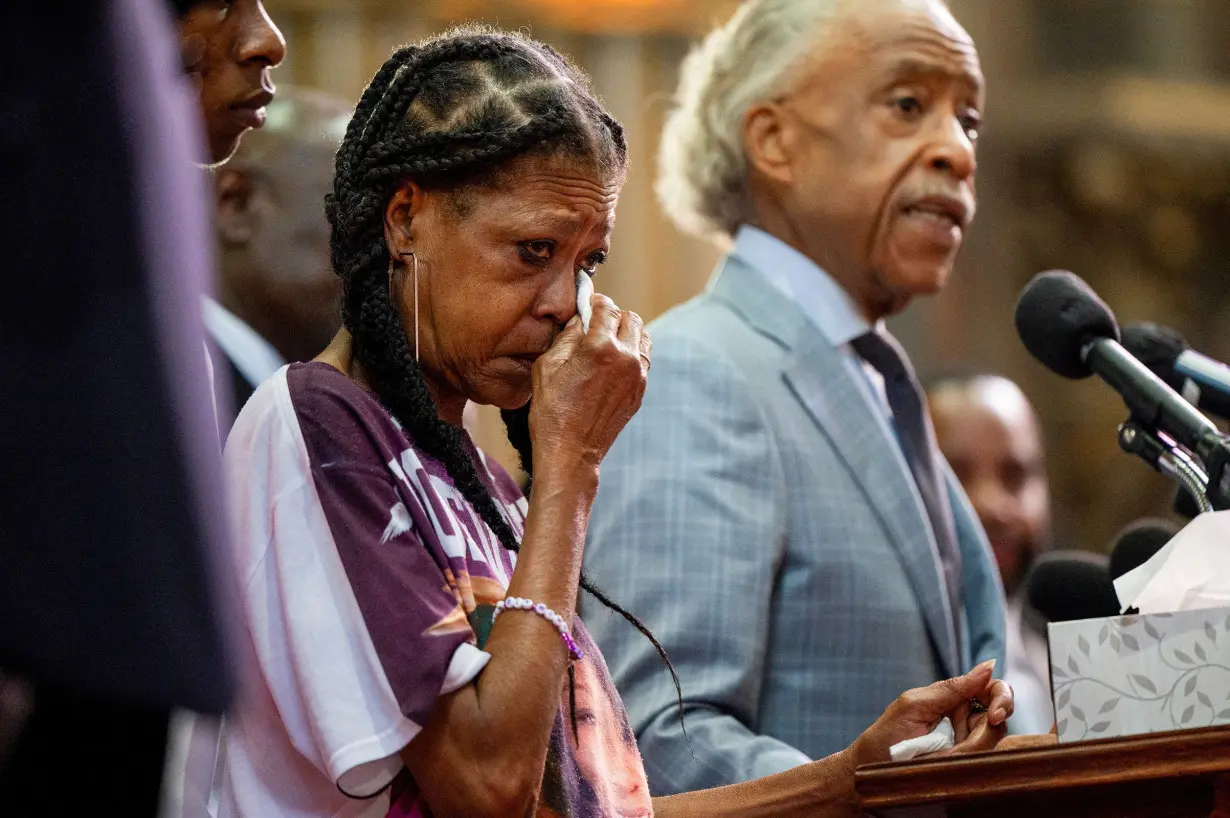
[(283, 364), (320, 354), (342, 324), (325, 196), (351, 107), (283, 87), (264, 127), (214, 172), (218, 299), (205, 299), (204, 315), (236, 412)]

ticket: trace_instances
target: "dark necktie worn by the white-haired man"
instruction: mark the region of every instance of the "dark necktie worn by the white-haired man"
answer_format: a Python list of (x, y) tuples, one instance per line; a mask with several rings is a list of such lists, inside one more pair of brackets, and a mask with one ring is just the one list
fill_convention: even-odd
[(893, 412), (893, 426), (900, 442), (905, 460), (914, 474), (914, 483), (922, 504), (926, 506), (938, 549), (940, 565), (943, 567), (943, 581), (947, 586), (948, 602), (952, 606), (953, 633), (959, 638), (961, 629), (958, 611), (961, 610), (961, 549), (957, 544), (957, 529), (952, 519), (952, 506), (948, 504), (948, 492), (940, 470), (940, 454), (935, 443), (935, 429), (927, 415), (919, 385), (905, 351), (888, 333), (868, 332), (854, 340), (855, 352), (876, 368), (884, 378), (884, 391), (888, 407)]

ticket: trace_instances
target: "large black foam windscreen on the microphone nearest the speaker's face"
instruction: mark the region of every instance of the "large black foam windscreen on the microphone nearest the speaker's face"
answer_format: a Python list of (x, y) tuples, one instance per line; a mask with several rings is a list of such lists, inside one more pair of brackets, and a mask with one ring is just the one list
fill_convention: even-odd
[(1087, 378), (1081, 357), (1090, 341), (1119, 340), (1119, 325), (1097, 293), (1074, 273), (1033, 277), (1016, 303), (1016, 331), (1030, 354), (1064, 378)]

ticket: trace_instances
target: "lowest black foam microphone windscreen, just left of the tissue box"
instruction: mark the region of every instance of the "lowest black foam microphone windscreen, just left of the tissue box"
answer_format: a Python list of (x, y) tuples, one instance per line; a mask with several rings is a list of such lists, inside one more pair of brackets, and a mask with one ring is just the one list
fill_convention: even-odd
[(1044, 622), (1119, 614), (1107, 558), (1089, 551), (1049, 551), (1039, 556), (1025, 577), (1025, 602)]

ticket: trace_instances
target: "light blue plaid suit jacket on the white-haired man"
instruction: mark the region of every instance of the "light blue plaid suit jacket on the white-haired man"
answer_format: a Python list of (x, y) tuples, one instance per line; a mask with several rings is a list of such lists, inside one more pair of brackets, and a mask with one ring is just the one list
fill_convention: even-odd
[(793, 301), (729, 257), (651, 331), (645, 402), (603, 461), (584, 566), (670, 653), (690, 748), (657, 652), (582, 603), (654, 795), (822, 758), (904, 690), (1004, 667), (1002, 590), (964, 492), (947, 471), (953, 633), (900, 449)]

